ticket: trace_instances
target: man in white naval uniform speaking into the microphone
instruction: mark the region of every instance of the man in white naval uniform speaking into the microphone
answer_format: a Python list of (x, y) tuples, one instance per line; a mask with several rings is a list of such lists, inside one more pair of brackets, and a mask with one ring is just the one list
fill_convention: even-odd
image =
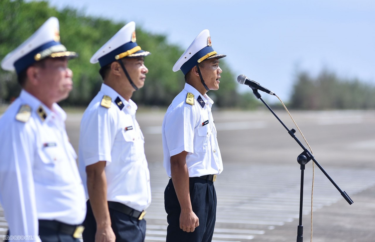
[(203, 30), (177, 60), (185, 87), (168, 107), (162, 125), (164, 167), (171, 177), (164, 192), (166, 242), (210, 242), (216, 221), (213, 182), (223, 170), (208, 90), (219, 89), (222, 70)]

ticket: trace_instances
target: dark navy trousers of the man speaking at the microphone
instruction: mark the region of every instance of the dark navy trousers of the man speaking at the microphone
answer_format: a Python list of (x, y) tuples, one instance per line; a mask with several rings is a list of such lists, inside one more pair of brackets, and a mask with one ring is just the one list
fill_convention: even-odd
[(168, 227), (166, 242), (210, 242), (216, 221), (216, 192), (213, 182), (199, 177), (189, 178), (190, 200), (193, 212), (199, 219), (199, 226), (194, 232), (180, 229), (181, 207), (176, 192), (169, 179), (164, 191), (164, 205)]

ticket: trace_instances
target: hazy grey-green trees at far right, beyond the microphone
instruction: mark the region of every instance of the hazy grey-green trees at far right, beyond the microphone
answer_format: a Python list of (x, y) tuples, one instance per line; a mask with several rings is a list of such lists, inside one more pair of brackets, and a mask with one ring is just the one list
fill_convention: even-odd
[(296, 75), (290, 101), (295, 109), (375, 109), (375, 85), (357, 78), (340, 78), (323, 69), (317, 77)]

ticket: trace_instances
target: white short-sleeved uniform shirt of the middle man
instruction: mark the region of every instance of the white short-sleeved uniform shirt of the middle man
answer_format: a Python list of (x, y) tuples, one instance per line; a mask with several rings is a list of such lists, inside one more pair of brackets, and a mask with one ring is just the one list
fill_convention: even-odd
[[(104, 95), (112, 99), (110, 108), (101, 106)], [(127, 102), (111, 87), (102, 84), (83, 114), (78, 154), (86, 192), (86, 166), (107, 161), (107, 201), (142, 211), (151, 203), (151, 188), (144, 137), (135, 120), (136, 109), (131, 99)], [(88, 193), (86, 195), (89, 197)]]

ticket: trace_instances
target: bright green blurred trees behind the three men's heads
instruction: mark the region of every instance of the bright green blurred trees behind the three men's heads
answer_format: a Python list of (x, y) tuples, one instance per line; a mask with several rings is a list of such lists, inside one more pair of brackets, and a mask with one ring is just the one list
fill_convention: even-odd
[[(57, 10), (46, 1), (24, 2), (23, 0), (0, 1), (0, 59), (30, 37), (51, 16), (60, 21), (62, 43), (68, 50), (79, 54), (69, 62), (74, 73), (74, 89), (63, 105), (87, 105), (98, 93), (102, 78), (99, 64), (91, 64), (91, 56), (107, 42), (125, 22), (115, 23), (108, 19), (85, 16), (75, 9)], [(168, 106), (184, 86), (182, 72), (173, 72), (172, 67), (184, 52), (180, 46), (168, 44), (165, 35), (150, 34), (136, 27), (137, 43), (151, 52), (145, 58), (149, 69), (145, 86), (136, 91), (132, 99), (143, 105)], [(220, 89), (210, 96), (220, 107), (236, 106), (240, 102), (236, 77), (224, 61)], [(0, 70), (0, 100), (12, 100), (18, 96), (20, 86), (14, 73)]]

